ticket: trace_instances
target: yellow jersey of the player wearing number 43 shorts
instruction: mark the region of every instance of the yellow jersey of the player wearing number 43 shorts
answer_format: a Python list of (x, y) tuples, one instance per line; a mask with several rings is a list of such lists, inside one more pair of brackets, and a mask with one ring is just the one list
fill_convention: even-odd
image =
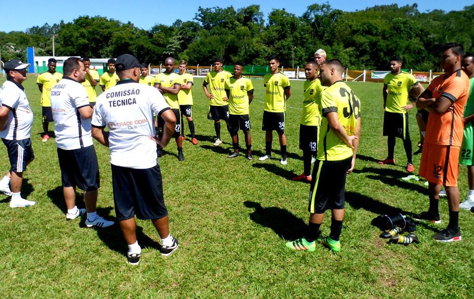
[(303, 112), (301, 113), (300, 123), (305, 126), (319, 126), (319, 97), (324, 87), (319, 79), (306, 80), (303, 84)]

